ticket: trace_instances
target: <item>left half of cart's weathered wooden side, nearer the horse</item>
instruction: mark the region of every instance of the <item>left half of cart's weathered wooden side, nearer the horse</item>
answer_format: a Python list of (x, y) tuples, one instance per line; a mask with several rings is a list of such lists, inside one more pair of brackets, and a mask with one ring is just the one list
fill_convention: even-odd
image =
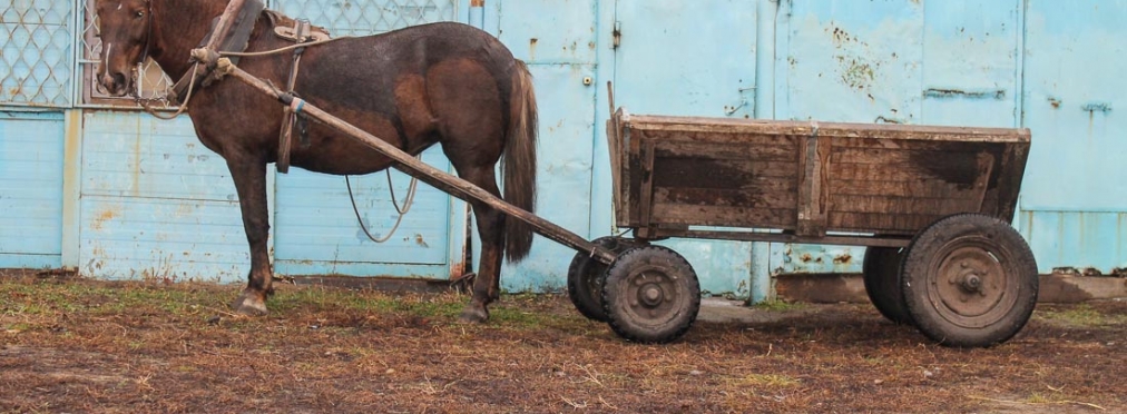
[[(635, 133), (653, 145), (653, 188), (640, 191), (650, 201), (651, 212), (644, 214), (650, 226), (795, 227), (796, 138), (674, 129)], [(707, 137), (696, 136), (701, 134)]]

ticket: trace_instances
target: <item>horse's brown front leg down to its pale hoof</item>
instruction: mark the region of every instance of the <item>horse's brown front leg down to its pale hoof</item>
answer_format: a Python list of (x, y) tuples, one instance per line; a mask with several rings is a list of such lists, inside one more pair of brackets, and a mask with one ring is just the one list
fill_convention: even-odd
[(273, 272), (266, 241), (269, 220), (266, 208), (266, 161), (247, 154), (227, 156), (227, 168), (234, 179), (242, 210), (242, 227), (250, 244), (250, 273), (247, 288), (231, 303), (231, 308), (245, 315), (266, 314), (266, 297), (273, 294)]

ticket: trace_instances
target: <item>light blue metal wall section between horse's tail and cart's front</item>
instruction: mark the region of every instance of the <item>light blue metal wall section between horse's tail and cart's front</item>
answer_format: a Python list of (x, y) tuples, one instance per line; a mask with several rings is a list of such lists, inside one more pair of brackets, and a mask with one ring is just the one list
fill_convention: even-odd
[[(585, 86), (584, 78), (595, 76), (596, 2), (498, 3), (499, 38), (529, 63), (536, 89), (536, 214), (586, 237), (592, 208), (595, 86), (594, 81)], [(527, 259), (502, 269), (502, 287), (509, 291), (559, 289), (573, 255), (569, 248), (536, 236)]]

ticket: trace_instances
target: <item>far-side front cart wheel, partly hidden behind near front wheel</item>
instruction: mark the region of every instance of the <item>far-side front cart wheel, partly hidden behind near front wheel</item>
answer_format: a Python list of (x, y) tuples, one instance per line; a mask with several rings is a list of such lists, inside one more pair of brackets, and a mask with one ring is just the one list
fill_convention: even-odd
[[(621, 237), (605, 236), (592, 241), (615, 253), (621, 253), (632, 244)], [(567, 294), (571, 304), (588, 320), (606, 322), (603, 312), (603, 276), (606, 264), (592, 259), (589, 252), (575, 253), (567, 269)]]

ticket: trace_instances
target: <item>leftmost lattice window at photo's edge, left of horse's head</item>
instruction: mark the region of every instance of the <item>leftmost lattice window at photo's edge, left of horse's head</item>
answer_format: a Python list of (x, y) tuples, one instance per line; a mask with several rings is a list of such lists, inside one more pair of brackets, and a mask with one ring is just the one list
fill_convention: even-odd
[(0, 2), (0, 104), (71, 104), (73, 16), (71, 1)]

